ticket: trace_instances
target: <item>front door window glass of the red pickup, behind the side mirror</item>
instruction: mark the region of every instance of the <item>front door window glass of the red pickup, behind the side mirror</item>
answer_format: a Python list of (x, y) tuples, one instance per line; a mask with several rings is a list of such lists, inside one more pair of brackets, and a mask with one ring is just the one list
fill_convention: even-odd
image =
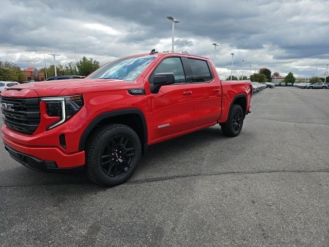
[(166, 58), (154, 70), (153, 75), (158, 73), (174, 73), (175, 83), (185, 83), (184, 69), (180, 58)]

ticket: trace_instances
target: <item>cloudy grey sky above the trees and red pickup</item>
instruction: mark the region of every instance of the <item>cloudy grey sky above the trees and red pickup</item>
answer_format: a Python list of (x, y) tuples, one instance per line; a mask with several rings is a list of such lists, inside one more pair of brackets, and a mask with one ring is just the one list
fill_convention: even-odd
[[(322, 75), (329, 63), (327, 0), (0, 0), (0, 60), (26, 68), (43, 67), (44, 54), (60, 54), (63, 65), (171, 49), (214, 58), (223, 77), (241, 75), (242, 60), (252, 72), (267, 67), (285, 75)], [(47, 66), (53, 63), (46, 55)], [(245, 72), (246, 73), (246, 72)]]

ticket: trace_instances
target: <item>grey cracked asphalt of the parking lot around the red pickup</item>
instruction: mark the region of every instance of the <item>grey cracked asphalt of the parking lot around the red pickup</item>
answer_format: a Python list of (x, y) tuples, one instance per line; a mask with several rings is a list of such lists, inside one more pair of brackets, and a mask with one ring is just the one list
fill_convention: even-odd
[(0, 246), (329, 246), (329, 90), (265, 89), (235, 138), (150, 146), (103, 188), (0, 146)]

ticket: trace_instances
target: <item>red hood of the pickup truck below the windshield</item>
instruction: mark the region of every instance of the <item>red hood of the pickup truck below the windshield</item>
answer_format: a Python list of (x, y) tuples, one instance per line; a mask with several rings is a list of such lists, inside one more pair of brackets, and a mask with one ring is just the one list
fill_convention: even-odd
[[(82, 94), (92, 91), (106, 91), (129, 89), (136, 87), (135, 81), (124, 81), (116, 79), (71, 79), (71, 80), (54, 80), (43, 82), (32, 82), (19, 84), (8, 88), (3, 92), (3, 96), (14, 96), (17, 91), (34, 91), (39, 97), (50, 97), (59, 95)], [(11, 91), (11, 92), (10, 92)], [(22, 92), (23, 93), (23, 92)]]

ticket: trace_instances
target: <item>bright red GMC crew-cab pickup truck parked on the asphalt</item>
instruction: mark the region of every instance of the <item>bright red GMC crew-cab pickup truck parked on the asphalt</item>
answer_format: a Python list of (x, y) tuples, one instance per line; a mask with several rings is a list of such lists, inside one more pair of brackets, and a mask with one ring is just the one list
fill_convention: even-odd
[(85, 167), (90, 180), (113, 186), (131, 177), (148, 145), (216, 123), (224, 135), (239, 135), (251, 93), (249, 81), (221, 81), (208, 58), (151, 52), (85, 79), (8, 88), (2, 138), (26, 167)]

